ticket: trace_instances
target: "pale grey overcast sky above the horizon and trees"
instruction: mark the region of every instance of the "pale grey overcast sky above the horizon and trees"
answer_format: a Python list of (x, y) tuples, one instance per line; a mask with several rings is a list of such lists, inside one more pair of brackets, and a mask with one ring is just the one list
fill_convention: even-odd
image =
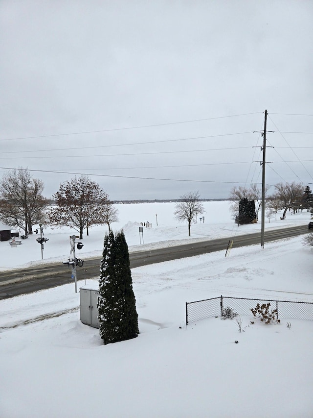
[(313, 1), (1, 0), (0, 19), (0, 176), (225, 198), (262, 181), (267, 109), (266, 183), (313, 183)]

